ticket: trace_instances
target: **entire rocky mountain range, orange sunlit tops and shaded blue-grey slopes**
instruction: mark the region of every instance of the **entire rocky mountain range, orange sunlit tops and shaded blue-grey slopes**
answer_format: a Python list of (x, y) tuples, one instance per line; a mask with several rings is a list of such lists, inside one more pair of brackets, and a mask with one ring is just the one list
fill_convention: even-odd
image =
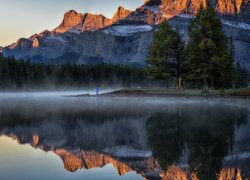
[(113, 18), (70, 10), (52, 31), (0, 48), (4, 56), (44, 63), (119, 63), (144, 65), (154, 31), (168, 20), (187, 40), (189, 22), (200, 6), (213, 6), (228, 37), (235, 59), (250, 70), (250, 3), (248, 0), (147, 0), (135, 11), (119, 7)]

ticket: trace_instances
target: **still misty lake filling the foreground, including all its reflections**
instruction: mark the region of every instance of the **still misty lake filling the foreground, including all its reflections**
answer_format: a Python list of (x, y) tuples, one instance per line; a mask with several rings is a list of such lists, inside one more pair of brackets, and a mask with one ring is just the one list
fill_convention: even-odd
[(72, 94), (0, 93), (0, 179), (250, 178), (249, 100)]

